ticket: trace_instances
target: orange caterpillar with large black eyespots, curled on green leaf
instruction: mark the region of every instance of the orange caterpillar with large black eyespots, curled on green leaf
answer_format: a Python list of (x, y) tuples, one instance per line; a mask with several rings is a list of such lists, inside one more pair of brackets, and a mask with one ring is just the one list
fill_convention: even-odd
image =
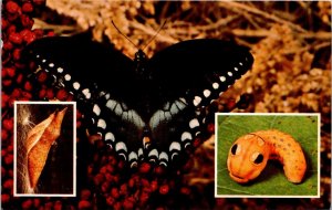
[(239, 183), (246, 183), (260, 175), (269, 159), (277, 159), (283, 165), (289, 181), (302, 181), (307, 170), (303, 150), (292, 136), (277, 129), (259, 130), (238, 138), (228, 154), (229, 176)]

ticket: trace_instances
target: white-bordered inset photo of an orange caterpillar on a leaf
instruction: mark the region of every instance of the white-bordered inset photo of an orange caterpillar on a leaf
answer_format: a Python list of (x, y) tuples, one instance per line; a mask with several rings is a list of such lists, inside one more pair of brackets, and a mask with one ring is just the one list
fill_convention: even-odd
[(319, 198), (320, 114), (216, 115), (216, 197)]

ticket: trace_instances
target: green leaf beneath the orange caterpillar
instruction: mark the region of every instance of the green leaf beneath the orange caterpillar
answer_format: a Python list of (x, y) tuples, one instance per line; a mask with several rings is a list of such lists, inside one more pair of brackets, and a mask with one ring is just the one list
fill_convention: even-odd
[[(218, 115), (217, 123), (217, 196), (318, 196), (318, 115)], [(229, 177), (226, 162), (232, 143), (248, 133), (267, 129), (287, 133), (300, 143), (307, 159), (301, 183), (288, 181), (282, 165), (276, 160), (269, 160), (260, 176), (248, 185)]]

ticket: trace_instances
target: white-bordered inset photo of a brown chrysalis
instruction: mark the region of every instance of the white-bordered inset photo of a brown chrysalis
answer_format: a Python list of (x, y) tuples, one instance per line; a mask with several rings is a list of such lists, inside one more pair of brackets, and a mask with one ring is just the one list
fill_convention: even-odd
[(14, 196), (75, 196), (75, 102), (14, 103)]

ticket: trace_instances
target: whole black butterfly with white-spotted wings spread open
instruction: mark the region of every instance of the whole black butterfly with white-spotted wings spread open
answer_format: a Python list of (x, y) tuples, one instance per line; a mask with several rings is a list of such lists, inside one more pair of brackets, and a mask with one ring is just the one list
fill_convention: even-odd
[(131, 167), (173, 165), (195, 138), (206, 138), (203, 108), (253, 62), (247, 48), (211, 39), (183, 41), (152, 59), (138, 50), (134, 61), (80, 35), (44, 38), (27, 52)]

